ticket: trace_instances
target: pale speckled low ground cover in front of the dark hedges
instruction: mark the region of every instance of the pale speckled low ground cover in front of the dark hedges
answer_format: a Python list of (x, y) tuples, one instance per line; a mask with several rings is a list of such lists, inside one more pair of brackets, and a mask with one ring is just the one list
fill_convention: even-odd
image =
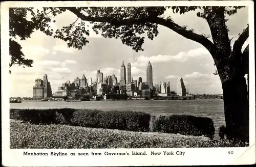
[(10, 121), (11, 149), (94, 149), (94, 148), (198, 148), (245, 147), (202, 136), (157, 132), (84, 128), (68, 125), (35, 125)]

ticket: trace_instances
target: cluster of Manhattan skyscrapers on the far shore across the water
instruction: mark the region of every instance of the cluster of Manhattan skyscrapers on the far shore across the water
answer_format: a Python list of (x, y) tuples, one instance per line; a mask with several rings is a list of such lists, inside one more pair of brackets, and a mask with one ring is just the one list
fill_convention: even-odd
[(153, 68), (148, 62), (146, 66), (146, 82), (142, 81), (142, 77), (134, 80), (132, 77), (131, 63), (127, 64), (127, 77), (126, 67), (122, 62), (120, 68), (120, 80), (115, 74), (103, 77), (100, 70), (96, 72), (96, 81), (93, 82), (92, 77), (87, 78), (84, 74), (81, 79), (76, 77), (73, 82), (66, 81), (56, 93), (52, 94), (50, 82), (48, 82), (47, 74), (44, 75), (44, 80), (36, 79), (35, 87), (33, 87), (33, 98), (41, 99), (47, 97), (63, 97), (63, 96), (82, 96), (85, 94), (92, 94), (93, 96), (107, 95), (107, 94), (125, 94), (127, 96), (144, 96), (154, 97), (158, 96), (186, 96), (187, 91), (182, 78), (178, 79), (177, 92), (170, 91), (170, 85), (166, 82), (160, 82), (160, 85), (153, 86)]

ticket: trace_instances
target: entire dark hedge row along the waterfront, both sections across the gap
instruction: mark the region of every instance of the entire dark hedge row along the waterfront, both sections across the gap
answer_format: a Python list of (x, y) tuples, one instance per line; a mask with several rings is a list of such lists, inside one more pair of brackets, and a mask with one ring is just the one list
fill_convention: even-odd
[(66, 124), (131, 131), (180, 133), (196, 136), (205, 135), (210, 138), (213, 138), (215, 133), (212, 119), (187, 115), (155, 118), (155, 116), (150, 116), (144, 112), (59, 108), (11, 109), (10, 118), (33, 124)]

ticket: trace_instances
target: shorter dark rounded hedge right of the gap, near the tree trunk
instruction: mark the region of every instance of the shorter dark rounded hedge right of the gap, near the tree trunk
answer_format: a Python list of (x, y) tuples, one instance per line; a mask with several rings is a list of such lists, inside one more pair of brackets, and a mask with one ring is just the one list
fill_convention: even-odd
[(210, 118), (187, 115), (160, 116), (153, 124), (153, 131), (214, 138), (214, 122)]

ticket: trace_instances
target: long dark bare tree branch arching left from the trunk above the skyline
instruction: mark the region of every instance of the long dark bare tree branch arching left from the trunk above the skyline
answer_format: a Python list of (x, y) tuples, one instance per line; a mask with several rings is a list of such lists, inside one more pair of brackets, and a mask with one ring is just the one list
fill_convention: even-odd
[(92, 22), (108, 22), (114, 25), (133, 25), (133, 24), (143, 24), (146, 22), (150, 23), (157, 23), (160, 25), (163, 25), (165, 27), (168, 27), (169, 29), (175, 31), (176, 33), (182, 35), (183, 37), (196, 41), (200, 44), (202, 44), (204, 47), (208, 49), (208, 51), (211, 53), (211, 55), (216, 54), (216, 48), (215, 45), (209, 41), (207, 38), (205, 38), (202, 35), (198, 35), (196, 33), (193, 33), (192, 31), (188, 31), (184, 29), (184, 27), (176, 24), (172, 20), (160, 18), (160, 17), (144, 17), (139, 19), (116, 19), (113, 17), (92, 17), (92, 16), (86, 16), (79, 12), (76, 8), (65, 8), (72, 13), (74, 13), (77, 17), (84, 21), (92, 21)]

